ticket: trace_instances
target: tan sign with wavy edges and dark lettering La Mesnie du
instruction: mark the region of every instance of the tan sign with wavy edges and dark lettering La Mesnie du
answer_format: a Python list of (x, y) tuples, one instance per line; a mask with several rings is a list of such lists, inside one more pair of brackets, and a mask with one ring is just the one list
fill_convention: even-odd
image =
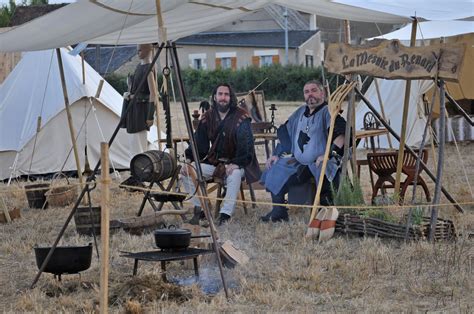
[(339, 43), (329, 45), (324, 64), (329, 72), (343, 75), (430, 79), (438, 74), (438, 78), (457, 82), (464, 50), (463, 44), (406, 47), (398, 40), (377, 40), (364, 46)]

